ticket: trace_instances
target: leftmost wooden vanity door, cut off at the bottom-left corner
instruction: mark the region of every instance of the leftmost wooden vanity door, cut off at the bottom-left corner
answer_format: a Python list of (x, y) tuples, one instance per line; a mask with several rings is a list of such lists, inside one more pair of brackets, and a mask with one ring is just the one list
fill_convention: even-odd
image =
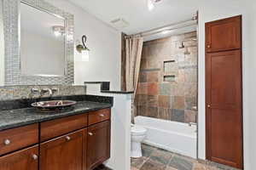
[(38, 146), (0, 157), (1, 170), (38, 170)]

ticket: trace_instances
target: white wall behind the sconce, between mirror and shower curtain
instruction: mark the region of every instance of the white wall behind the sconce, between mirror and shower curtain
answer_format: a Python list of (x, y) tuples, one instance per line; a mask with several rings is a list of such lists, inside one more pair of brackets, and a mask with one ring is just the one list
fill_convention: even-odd
[[(58, 8), (74, 14), (74, 42), (87, 36), (90, 48), (89, 62), (75, 62), (75, 84), (90, 81), (109, 81), (111, 89), (120, 89), (120, 33), (105, 25), (100, 20), (74, 6), (67, 0), (47, 0)], [(81, 40), (80, 40), (81, 42)], [(79, 57), (75, 51), (74, 57)]]

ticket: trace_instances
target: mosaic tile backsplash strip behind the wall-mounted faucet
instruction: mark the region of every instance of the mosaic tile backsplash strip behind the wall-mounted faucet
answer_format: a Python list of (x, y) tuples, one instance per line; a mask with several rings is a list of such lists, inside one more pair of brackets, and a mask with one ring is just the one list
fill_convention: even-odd
[(71, 86), (71, 85), (45, 85), (45, 86), (6, 86), (0, 87), (0, 100), (10, 99), (32, 99), (39, 97), (49, 97), (49, 93), (40, 96), (39, 93), (32, 93), (32, 88), (58, 88), (59, 91), (52, 96), (67, 96), (86, 94), (85, 86)]

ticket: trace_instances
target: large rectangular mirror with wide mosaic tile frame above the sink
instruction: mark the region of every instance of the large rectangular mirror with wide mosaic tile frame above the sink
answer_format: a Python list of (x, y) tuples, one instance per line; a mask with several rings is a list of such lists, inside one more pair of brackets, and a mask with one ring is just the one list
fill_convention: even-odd
[(44, 0), (2, 0), (1, 86), (73, 84), (73, 14)]

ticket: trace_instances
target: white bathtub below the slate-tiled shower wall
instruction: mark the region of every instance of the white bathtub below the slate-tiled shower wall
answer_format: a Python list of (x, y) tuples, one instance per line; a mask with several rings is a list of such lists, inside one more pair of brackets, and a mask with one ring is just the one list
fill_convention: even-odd
[(136, 116), (135, 124), (148, 129), (143, 143), (196, 158), (196, 126), (147, 116)]

